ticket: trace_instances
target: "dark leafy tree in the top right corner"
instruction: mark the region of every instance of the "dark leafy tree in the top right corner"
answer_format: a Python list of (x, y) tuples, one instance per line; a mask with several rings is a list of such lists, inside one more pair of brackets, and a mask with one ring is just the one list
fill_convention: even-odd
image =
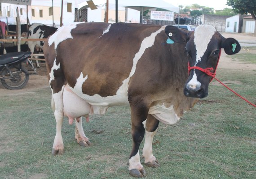
[(250, 13), (252, 18), (256, 20), (256, 0), (227, 0), (227, 5), (231, 6), (237, 13)]

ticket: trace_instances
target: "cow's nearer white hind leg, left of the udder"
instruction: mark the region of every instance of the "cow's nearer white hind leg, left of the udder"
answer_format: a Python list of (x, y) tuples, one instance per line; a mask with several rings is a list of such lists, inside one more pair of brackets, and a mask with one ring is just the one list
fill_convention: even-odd
[(62, 87), (62, 90), (58, 93), (53, 94), (53, 103), (52, 105), (55, 105), (55, 111), (54, 111), (54, 117), (56, 120), (56, 136), (54, 138), (53, 142), (53, 150), (52, 154), (62, 154), (64, 153), (64, 145), (62, 140), (62, 122), (63, 122), (63, 100), (62, 100), (62, 94), (63, 94), (64, 86)]

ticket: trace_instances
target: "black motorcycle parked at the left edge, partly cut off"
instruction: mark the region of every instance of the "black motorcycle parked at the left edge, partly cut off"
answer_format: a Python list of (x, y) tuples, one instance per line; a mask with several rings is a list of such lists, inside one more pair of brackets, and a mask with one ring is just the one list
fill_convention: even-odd
[[(0, 81), (9, 90), (22, 89), (29, 80), (28, 70), (22, 62), (28, 62), (31, 52), (11, 52), (0, 56)], [(31, 65), (31, 64), (30, 64)]]

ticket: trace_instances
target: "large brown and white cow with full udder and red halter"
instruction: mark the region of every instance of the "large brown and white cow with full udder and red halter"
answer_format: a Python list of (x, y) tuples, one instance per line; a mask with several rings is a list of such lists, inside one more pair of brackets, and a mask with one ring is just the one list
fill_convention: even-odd
[[(198, 69), (188, 74), (188, 62), (191, 67), (215, 69), (221, 48), (232, 55), (240, 45), (208, 25), (193, 32), (130, 23), (60, 27), (44, 45), (57, 122), (52, 153), (64, 152), (63, 115), (75, 119), (89, 113), (104, 114), (111, 106), (129, 105), (133, 145), (128, 170), (133, 176), (146, 175), (139, 155), (145, 132), (145, 164), (159, 166), (152, 152), (159, 121), (175, 124), (198, 98), (207, 96), (212, 79)], [(82, 142), (89, 145), (80, 118), (76, 127)]]

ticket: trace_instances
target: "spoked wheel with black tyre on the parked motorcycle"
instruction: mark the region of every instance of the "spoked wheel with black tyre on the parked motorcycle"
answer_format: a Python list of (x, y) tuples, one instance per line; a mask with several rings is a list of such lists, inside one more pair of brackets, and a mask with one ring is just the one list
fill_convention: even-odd
[(1, 79), (2, 85), (9, 90), (19, 90), (22, 89), (29, 80), (29, 73), (26, 68), (21, 67), (21, 71), (18, 67), (9, 66), (13, 78), (11, 78), (8, 70), (5, 68), (2, 72), (3, 79)]

